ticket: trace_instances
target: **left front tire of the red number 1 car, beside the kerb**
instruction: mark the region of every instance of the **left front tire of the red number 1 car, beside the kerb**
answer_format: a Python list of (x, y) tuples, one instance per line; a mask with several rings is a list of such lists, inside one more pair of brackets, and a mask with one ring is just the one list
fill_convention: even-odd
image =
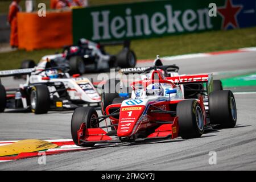
[(82, 123), (85, 123), (86, 128), (96, 128), (99, 127), (99, 124), (96, 124), (95, 122), (98, 122), (97, 120), (94, 120), (94, 122), (91, 122), (92, 118), (97, 118), (98, 114), (97, 111), (93, 107), (79, 107), (77, 108), (71, 119), (71, 135), (73, 142), (77, 146), (82, 146), (82, 147), (93, 147), (95, 143), (90, 143), (90, 144), (80, 144), (79, 145), (79, 140), (77, 138), (77, 131), (80, 129)]

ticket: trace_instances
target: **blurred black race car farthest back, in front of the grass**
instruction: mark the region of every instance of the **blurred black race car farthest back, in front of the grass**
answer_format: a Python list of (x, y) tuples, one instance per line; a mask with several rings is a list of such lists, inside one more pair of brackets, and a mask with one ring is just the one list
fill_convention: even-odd
[[(104, 46), (123, 44), (123, 49), (116, 55), (105, 52)], [(130, 42), (94, 43), (86, 39), (80, 39), (77, 45), (64, 46), (62, 53), (46, 55), (42, 60), (69, 60), (71, 74), (82, 74), (85, 72), (108, 71), (110, 68), (133, 68), (137, 57), (130, 49)], [(33, 60), (24, 60), (20, 68), (34, 68)]]

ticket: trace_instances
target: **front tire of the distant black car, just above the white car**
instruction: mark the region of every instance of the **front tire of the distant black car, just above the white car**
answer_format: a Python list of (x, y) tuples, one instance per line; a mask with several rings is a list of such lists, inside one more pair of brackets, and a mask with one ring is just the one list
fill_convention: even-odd
[(69, 73), (71, 73), (71, 74), (79, 73), (80, 75), (85, 73), (84, 61), (82, 60), (82, 58), (80, 56), (70, 57), (69, 64), (70, 64)]

